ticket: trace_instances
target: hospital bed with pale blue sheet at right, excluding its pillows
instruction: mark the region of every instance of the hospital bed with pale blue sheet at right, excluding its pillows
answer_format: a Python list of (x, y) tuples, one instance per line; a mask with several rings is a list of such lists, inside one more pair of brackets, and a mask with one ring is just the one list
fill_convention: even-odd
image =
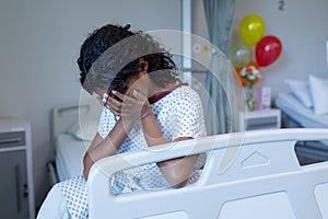
[[(316, 114), (306, 107), (293, 93), (279, 93), (276, 106), (282, 112), (283, 128), (328, 128), (328, 115)], [(328, 160), (328, 141), (298, 142), (296, 152), (304, 162)]]

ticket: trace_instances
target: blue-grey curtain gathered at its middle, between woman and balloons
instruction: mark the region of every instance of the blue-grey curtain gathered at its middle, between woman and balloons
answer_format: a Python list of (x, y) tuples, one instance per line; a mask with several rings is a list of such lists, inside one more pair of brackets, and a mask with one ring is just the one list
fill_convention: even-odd
[(206, 89), (212, 102), (208, 105), (214, 106), (214, 112), (211, 107), (204, 108), (207, 131), (209, 135), (236, 131), (236, 97), (242, 93), (235, 87), (234, 71), (224, 56), (230, 45), (235, 0), (203, 0), (203, 5), (210, 42), (222, 51), (212, 54), (212, 71), (206, 78)]

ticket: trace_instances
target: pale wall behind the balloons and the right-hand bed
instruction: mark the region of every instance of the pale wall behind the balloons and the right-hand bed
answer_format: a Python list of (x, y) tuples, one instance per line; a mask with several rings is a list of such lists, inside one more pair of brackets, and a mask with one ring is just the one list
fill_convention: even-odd
[[(258, 85), (270, 85), (272, 97), (288, 91), (284, 79), (307, 80), (308, 74), (328, 77), (325, 39), (328, 37), (327, 0), (235, 0), (233, 41), (241, 41), (238, 26), (249, 13), (259, 14), (266, 24), (265, 35), (276, 35), (282, 43), (280, 57), (261, 68)], [(192, 33), (208, 38), (203, 3), (192, 0)], [(255, 47), (253, 47), (255, 49)], [(255, 60), (255, 53), (254, 60)]]

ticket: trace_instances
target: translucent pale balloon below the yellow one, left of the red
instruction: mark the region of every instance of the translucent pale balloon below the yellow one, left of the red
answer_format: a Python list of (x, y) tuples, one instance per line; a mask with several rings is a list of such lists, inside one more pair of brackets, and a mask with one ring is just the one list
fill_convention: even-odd
[(227, 56), (235, 68), (244, 67), (251, 60), (250, 48), (243, 42), (232, 43)]

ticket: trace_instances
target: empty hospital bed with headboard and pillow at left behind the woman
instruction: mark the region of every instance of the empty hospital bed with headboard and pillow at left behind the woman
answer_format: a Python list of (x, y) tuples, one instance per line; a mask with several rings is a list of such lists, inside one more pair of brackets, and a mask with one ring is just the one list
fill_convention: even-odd
[(83, 173), (83, 155), (97, 131), (102, 107), (94, 100), (52, 107), (50, 113), (51, 162), (50, 182)]

